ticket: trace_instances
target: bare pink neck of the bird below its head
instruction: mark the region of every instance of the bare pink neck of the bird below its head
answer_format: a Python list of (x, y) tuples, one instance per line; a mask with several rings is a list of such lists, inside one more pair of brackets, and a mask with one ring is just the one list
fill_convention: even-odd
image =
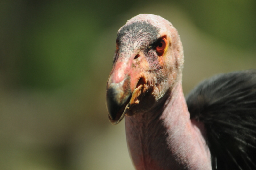
[(125, 116), (126, 140), (137, 170), (211, 170), (204, 125), (190, 120), (181, 83), (157, 111)]

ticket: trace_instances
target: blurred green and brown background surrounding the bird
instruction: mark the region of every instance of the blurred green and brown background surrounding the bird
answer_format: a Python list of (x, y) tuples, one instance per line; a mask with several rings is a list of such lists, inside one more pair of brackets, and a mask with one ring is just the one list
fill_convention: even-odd
[(187, 94), (256, 68), (255, 0), (0, 1), (0, 169), (133, 170), (105, 108), (117, 30), (140, 13), (179, 31)]

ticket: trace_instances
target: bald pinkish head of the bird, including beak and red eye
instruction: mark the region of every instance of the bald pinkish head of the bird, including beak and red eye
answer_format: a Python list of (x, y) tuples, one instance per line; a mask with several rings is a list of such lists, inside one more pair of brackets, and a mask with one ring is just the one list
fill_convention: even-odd
[(169, 21), (152, 14), (127, 21), (117, 33), (107, 82), (110, 122), (154, 109), (180, 81), (183, 62), (179, 34)]

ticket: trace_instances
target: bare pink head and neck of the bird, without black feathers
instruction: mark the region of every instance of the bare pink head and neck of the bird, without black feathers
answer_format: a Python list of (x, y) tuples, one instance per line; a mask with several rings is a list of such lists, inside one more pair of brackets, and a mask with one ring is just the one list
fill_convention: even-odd
[(118, 30), (116, 47), (107, 108), (113, 124), (125, 116), (136, 169), (211, 169), (204, 125), (190, 120), (182, 92), (177, 30), (160, 16), (140, 14)]

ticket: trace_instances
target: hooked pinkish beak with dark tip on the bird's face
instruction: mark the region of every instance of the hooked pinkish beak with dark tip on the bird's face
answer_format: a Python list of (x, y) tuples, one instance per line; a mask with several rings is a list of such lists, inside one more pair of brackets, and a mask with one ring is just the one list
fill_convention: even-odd
[(130, 106), (136, 102), (138, 104), (136, 91), (142, 87), (141, 84), (138, 87), (138, 82), (143, 77), (143, 67), (148, 63), (144, 56), (138, 58), (136, 55), (119, 55), (108, 78), (106, 106), (112, 124), (119, 123)]

